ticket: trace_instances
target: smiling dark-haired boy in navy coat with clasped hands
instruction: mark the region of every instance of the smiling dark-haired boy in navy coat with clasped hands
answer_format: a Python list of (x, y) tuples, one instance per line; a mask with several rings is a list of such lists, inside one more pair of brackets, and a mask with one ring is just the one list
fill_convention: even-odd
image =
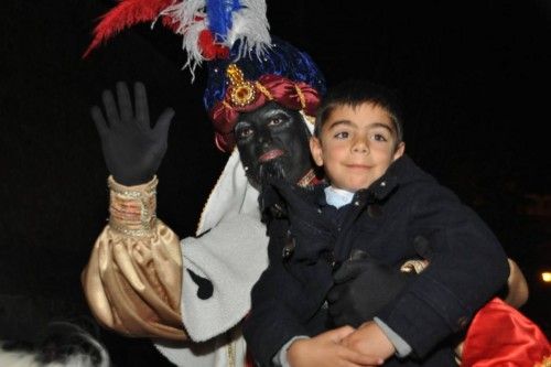
[[(387, 89), (366, 82), (337, 86), (322, 102), (314, 134), (312, 156), (328, 185), (309, 191), (274, 181), (261, 196), (270, 266), (252, 290), (245, 324), (255, 359), (293, 367), (382, 359), (386, 366), (456, 366), (451, 337), (507, 280), (501, 246), (473, 211), (403, 154), (400, 110)], [(396, 268), (419, 258), (422, 242), (433, 251), (431, 265), (374, 321), (325, 332), (325, 300), (339, 263), (361, 250)]]

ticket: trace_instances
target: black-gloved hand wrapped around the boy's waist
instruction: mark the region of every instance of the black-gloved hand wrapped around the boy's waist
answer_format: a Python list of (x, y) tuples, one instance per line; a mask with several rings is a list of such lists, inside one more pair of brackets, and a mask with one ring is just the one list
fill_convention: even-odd
[(372, 320), (414, 276), (356, 250), (333, 274), (335, 284), (327, 293), (327, 302), (334, 325), (358, 327)]

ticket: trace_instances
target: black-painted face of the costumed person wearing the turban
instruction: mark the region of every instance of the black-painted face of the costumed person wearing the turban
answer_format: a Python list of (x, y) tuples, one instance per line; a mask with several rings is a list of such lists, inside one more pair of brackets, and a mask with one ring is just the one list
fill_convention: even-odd
[(296, 110), (270, 101), (240, 114), (235, 137), (247, 177), (257, 188), (269, 176), (296, 183), (312, 169), (310, 132)]

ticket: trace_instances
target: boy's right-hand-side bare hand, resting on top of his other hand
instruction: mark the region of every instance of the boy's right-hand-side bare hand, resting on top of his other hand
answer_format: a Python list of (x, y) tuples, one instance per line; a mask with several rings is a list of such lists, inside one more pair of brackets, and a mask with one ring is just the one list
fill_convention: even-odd
[(342, 344), (363, 355), (380, 356), (383, 359), (391, 357), (396, 352), (387, 335), (372, 321), (361, 324), (354, 333), (345, 336)]

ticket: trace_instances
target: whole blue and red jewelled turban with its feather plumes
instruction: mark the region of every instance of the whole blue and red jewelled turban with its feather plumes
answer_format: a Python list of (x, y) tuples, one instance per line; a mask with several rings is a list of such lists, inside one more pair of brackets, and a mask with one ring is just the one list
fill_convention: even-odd
[(310, 58), (270, 36), (263, 0), (120, 0), (94, 30), (84, 54), (126, 28), (161, 20), (183, 36), (184, 67), (207, 61), (204, 104), (215, 127), (215, 142), (230, 151), (239, 112), (269, 100), (313, 116), (325, 93), (325, 79)]

